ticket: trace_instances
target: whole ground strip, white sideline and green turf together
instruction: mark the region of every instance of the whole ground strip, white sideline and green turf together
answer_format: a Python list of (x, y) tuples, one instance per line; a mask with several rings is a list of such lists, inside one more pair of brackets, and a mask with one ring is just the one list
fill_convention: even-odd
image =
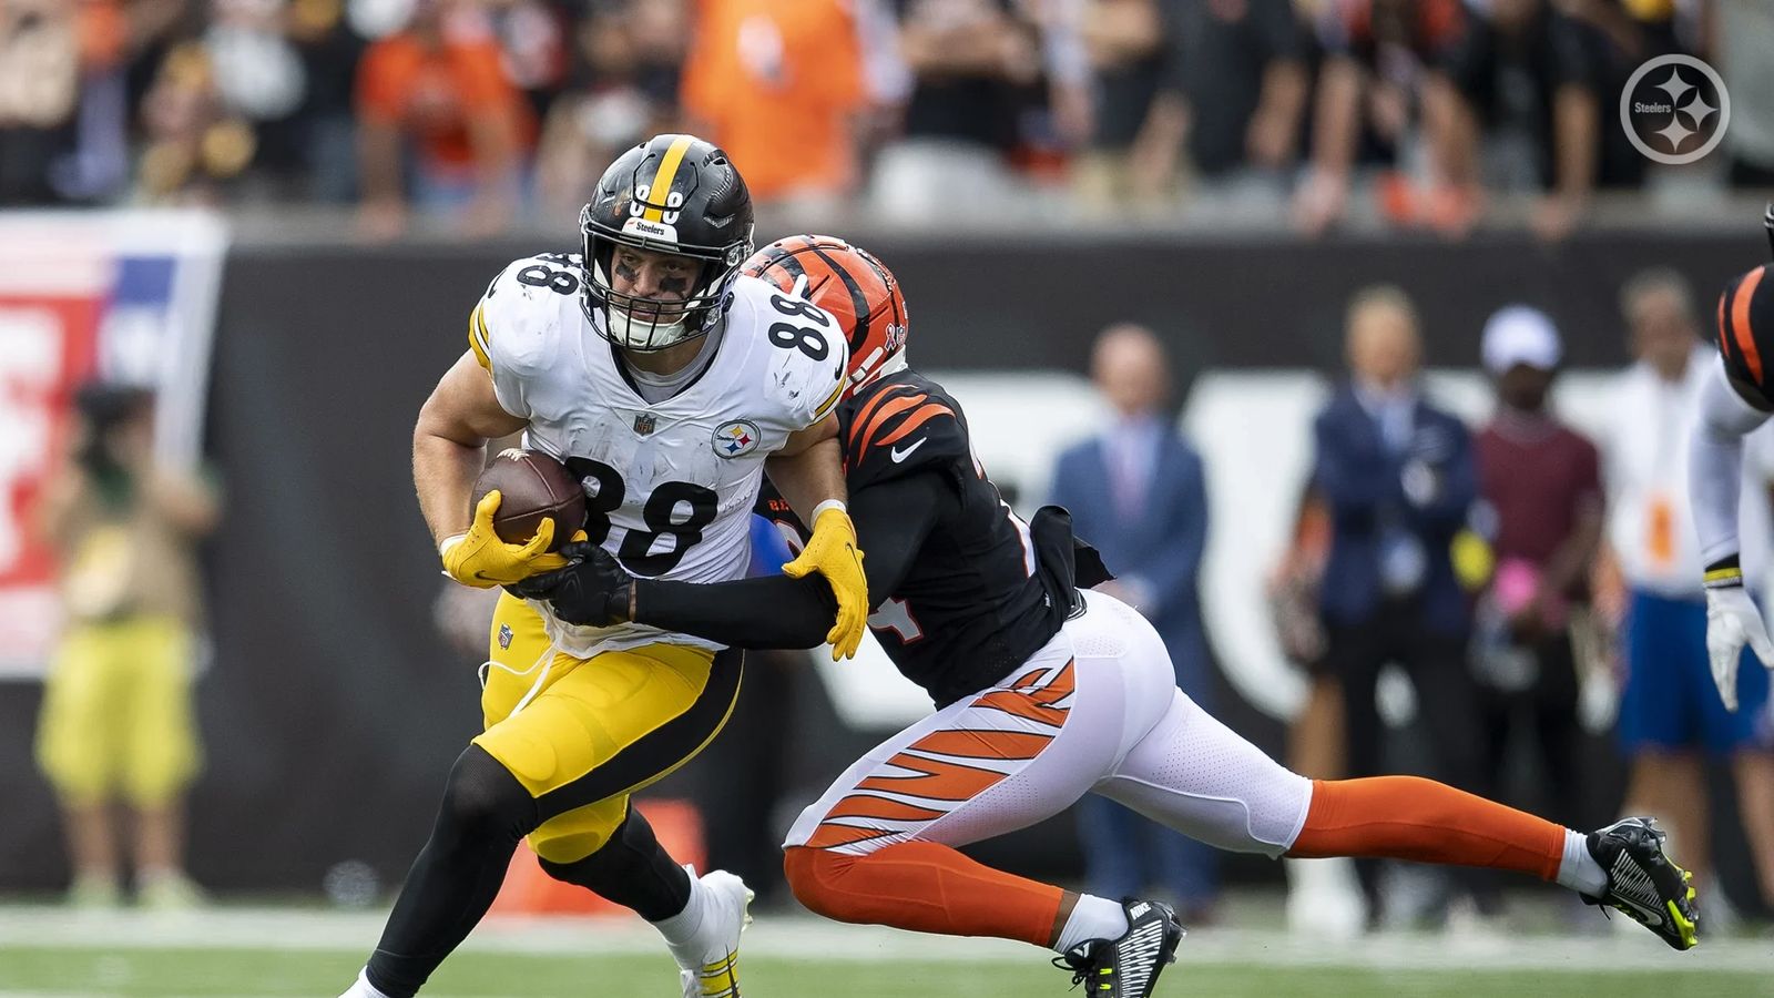
[[(1265, 911), (1190, 932), (1160, 998), (1774, 998), (1774, 939), (1675, 954), (1636, 925), (1582, 920), (1522, 934), (1446, 931), (1299, 938)], [(1274, 915), (1274, 913), (1270, 913)], [(172, 916), (0, 906), (0, 998), (334, 998), (383, 911), (208, 907)], [(807, 915), (745, 934), (749, 998), (1061, 998), (1047, 954)], [(637, 918), (490, 918), (426, 998), (674, 998), (676, 968)]]

